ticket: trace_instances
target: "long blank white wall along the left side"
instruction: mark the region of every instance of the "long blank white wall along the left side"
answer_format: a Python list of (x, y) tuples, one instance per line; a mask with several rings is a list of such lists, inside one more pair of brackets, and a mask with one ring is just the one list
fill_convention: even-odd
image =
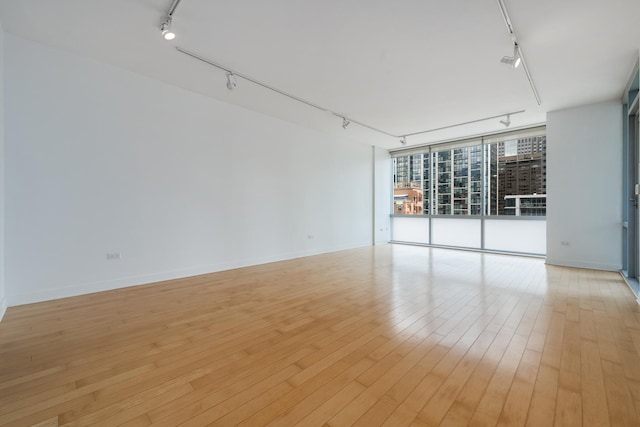
[(374, 240), (371, 146), (8, 34), (5, 58), (9, 305)]

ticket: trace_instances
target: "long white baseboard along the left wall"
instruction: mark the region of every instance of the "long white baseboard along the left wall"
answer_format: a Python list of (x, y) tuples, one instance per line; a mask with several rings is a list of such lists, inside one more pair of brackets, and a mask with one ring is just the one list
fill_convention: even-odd
[(42, 301), (50, 301), (60, 298), (74, 297), (78, 295), (91, 294), (95, 292), (110, 291), (114, 289), (127, 288), (130, 286), (146, 285), (149, 283), (162, 282), (165, 280), (181, 279), (185, 277), (198, 276), (201, 274), (215, 273), (219, 271), (232, 270), (234, 268), (249, 267), (252, 265), (268, 264), (271, 262), (284, 261), (294, 258), (302, 258), (312, 255), (320, 255), (323, 253), (337, 252), (342, 250), (354, 249), (358, 247), (371, 246), (369, 243), (360, 243), (355, 245), (345, 245), (336, 247), (326, 247), (322, 249), (313, 249), (305, 251), (296, 251), (290, 253), (281, 253), (273, 256), (251, 258), (237, 261), (227, 261), (222, 263), (196, 265), (176, 270), (162, 271), (149, 274), (140, 274), (136, 276), (121, 277), (112, 280), (97, 281), (91, 283), (70, 284), (54, 289), (44, 289), (35, 292), (17, 293), (7, 295), (8, 306), (17, 306), (24, 304), (32, 304)]

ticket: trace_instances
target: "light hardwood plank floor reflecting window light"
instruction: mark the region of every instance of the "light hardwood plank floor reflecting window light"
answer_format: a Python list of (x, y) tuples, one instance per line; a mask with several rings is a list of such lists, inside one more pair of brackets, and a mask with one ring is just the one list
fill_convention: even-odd
[(617, 273), (382, 245), (9, 308), (0, 425), (639, 426), (639, 354)]

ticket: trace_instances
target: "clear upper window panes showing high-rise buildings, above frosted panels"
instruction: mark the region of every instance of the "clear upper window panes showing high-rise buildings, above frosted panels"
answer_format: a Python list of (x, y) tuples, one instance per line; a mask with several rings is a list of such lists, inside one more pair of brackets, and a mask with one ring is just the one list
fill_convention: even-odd
[(393, 154), (396, 215), (545, 216), (544, 129)]

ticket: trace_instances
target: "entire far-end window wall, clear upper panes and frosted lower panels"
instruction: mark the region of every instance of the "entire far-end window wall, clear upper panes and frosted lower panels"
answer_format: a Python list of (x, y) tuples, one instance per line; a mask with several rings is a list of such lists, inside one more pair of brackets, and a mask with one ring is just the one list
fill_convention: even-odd
[(398, 242), (544, 254), (544, 127), (399, 150)]

